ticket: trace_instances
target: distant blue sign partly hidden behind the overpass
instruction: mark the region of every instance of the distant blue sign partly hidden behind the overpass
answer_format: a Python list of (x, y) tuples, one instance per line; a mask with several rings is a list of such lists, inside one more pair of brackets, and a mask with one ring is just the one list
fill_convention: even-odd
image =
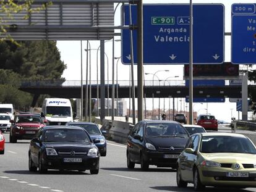
[[(185, 85), (189, 86), (189, 80), (185, 81)], [(193, 80), (193, 86), (224, 86), (225, 80)], [(186, 98), (189, 102), (189, 98)], [(225, 102), (225, 98), (193, 98), (193, 102)]]

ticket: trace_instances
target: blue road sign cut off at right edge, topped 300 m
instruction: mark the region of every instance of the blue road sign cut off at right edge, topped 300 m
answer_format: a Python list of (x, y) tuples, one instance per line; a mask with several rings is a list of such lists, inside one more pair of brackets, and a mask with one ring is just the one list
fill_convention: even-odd
[(256, 4), (232, 5), (233, 64), (256, 64)]

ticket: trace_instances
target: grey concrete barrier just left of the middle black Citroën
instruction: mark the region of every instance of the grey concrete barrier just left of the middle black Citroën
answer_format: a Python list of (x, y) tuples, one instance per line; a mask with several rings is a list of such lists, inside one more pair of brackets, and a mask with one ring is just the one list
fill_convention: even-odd
[(130, 130), (133, 127), (134, 125), (130, 123), (114, 120), (109, 130), (111, 140), (116, 141), (118, 143), (126, 143)]

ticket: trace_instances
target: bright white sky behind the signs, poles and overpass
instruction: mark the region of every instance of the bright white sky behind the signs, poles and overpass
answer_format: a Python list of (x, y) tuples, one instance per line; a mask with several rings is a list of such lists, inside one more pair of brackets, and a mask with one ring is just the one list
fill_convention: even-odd
[[(156, 1), (152, 0), (144, 0), (143, 3), (155, 3)], [(169, 4), (169, 3), (178, 3), (178, 4), (189, 4), (189, 0), (169, 0), (169, 1), (164, 1), (161, 0), (161, 3)], [(193, 3), (221, 3), (224, 5), (225, 9), (225, 32), (231, 32), (231, 5), (233, 3), (242, 3), (242, 1), (236, 1), (236, 0), (220, 0), (220, 1), (215, 1), (215, 0), (194, 0)], [(246, 3), (255, 3), (255, 0), (247, 0)], [(117, 8), (116, 14), (115, 14), (115, 25), (120, 25), (120, 18), (121, 18), (121, 12), (120, 12), (120, 7)], [(119, 30), (115, 31), (116, 33), (119, 32)], [(116, 36), (115, 39), (120, 39), (121, 37)], [(112, 41), (111, 41), (112, 42)], [(111, 83), (111, 67), (112, 67), (112, 43), (111, 42), (106, 42), (105, 43), (105, 52), (108, 55), (109, 58), (109, 83)], [(82, 50), (86, 49), (86, 44), (87, 41), (82, 41)], [(100, 45), (100, 41), (90, 41), (91, 48), (92, 49), (97, 49), (98, 46)], [(62, 77), (66, 78), (66, 80), (74, 80), (74, 81), (80, 81), (81, 79), (81, 46), (80, 46), (80, 41), (57, 41), (57, 46), (59, 51), (61, 52), (61, 60), (64, 61), (64, 63), (67, 65), (67, 69), (64, 70), (64, 73)], [(231, 36), (225, 36), (225, 62), (230, 62), (231, 61)], [(91, 52), (91, 58), (92, 58), (92, 80), (96, 80), (96, 51)], [(115, 42), (115, 51), (114, 51), (114, 56), (115, 57), (120, 57), (121, 56), (121, 42)], [(85, 78), (85, 64), (86, 64), (86, 52), (82, 51), (82, 63), (83, 63), (83, 78)], [(115, 65), (116, 65), (115, 60)], [(105, 61), (107, 64), (107, 61)], [(118, 80), (129, 80), (129, 65), (123, 65), (121, 63), (121, 59), (117, 63), (118, 65)], [(107, 66), (105, 67), (105, 80), (107, 80)], [(179, 76), (176, 78), (170, 78), (170, 80), (183, 80), (183, 65), (144, 65), (144, 72), (145, 73), (155, 73), (157, 70), (163, 69), (163, 70), (169, 70), (169, 72), (159, 72), (157, 73), (158, 77), (160, 79), (166, 79), (168, 77), (174, 77), (174, 76)], [(134, 71), (134, 78), (137, 80), (137, 66), (135, 66), (135, 71)], [(99, 76), (100, 80), (100, 76)], [(152, 75), (145, 75), (145, 80), (152, 80)], [(166, 103), (165, 106), (169, 106), (169, 99), (165, 99)], [(182, 109), (183, 103), (180, 102), (181, 99), (178, 100), (179, 102), (179, 108), (181, 107), (182, 104)], [(128, 101), (128, 99), (127, 99)], [(147, 98), (147, 109), (152, 109), (152, 99)], [(155, 99), (155, 108), (158, 106), (158, 99)], [(163, 109), (163, 99), (160, 101), (160, 107)], [(177, 100), (175, 101), (177, 103)], [(129, 104), (127, 103), (127, 106)], [(137, 102), (135, 104), (137, 108)], [(187, 104), (189, 106), (189, 104)], [(172, 105), (171, 105), (172, 108)], [(194, 111), (197, 111), (198, 114), (205, 114), (208, 109), (208, 113), (215, 115), (216, 119), (218, 120), (224, 120), (226, 122), (231, 122), (231, 115), (233, 117), (236, 117), (238, 119), (238, 112), (236, 111), (236, 103), (235, 102), (229, 102), (229, 99), (226, 98), (226, 102), (224, 103), (197, 103), (195, 102), (193, 104)], [(188, 109), (188, 108), (187, 108)], [(240, 112), (240, 119), (241, 119), (241, 112)], [(248, 117), (251, 117), (251, 114), (249, 113)]]

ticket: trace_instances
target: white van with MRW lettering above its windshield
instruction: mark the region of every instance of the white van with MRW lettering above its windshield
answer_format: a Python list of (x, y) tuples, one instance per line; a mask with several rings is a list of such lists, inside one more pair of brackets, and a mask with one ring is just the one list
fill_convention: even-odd
[(69, 99), (45, 98), (41, 115), (45, 117), (49, 125), (65, 125), (67, 122), (73, 121)]

